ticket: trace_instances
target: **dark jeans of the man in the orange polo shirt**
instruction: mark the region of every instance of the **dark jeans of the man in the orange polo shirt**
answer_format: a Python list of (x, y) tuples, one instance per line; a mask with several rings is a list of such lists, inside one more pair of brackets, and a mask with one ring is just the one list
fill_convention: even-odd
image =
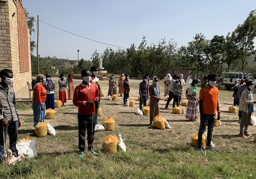
[(216, 114), (203, 114), (203, 116), (204, 116), (204, 123), (200, 122), (199, 131), (198, 131), (198, 140), (197, 140), (198, 148), (202, 147), (202, 137), (203, 137), (203, 133), (206, 130), (206, 126), (208, 127), (206, 145), (209, 147), (211, 146), (212, 131), (214, 128), (214, 123), (216, 118)]

